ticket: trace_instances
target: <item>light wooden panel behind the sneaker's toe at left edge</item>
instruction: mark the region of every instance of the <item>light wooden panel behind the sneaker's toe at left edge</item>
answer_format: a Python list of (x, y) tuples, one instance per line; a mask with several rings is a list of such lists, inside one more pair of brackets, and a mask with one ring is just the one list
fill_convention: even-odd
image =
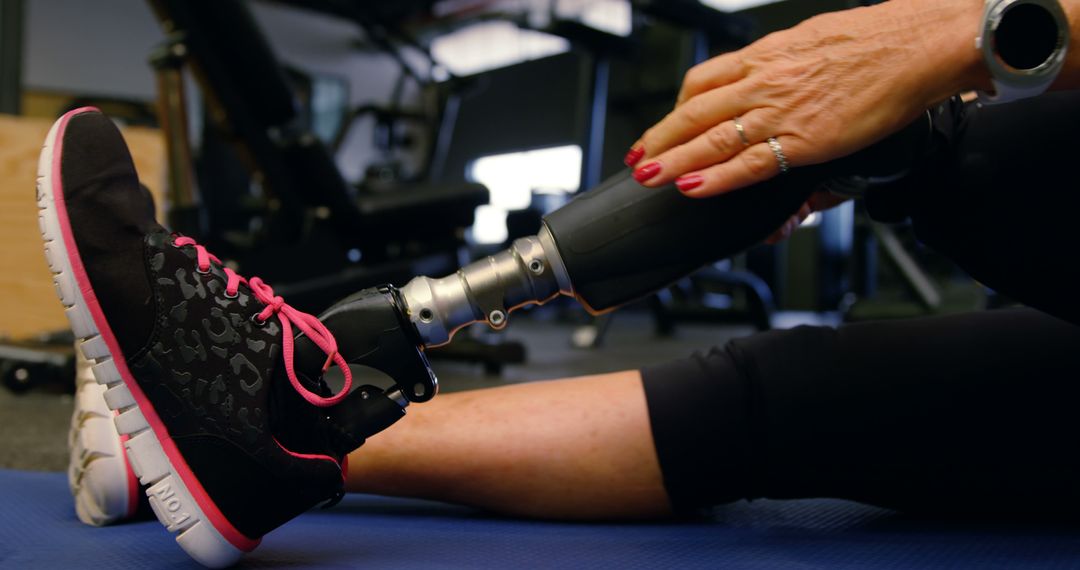
[[(45, 266), (33, 189), (38, 153), (52, 123), (0, 114), (0, 337), (26, 338), (68, 326)], [(160, 209), (164, 140), (150, 128), (123, 134)]]

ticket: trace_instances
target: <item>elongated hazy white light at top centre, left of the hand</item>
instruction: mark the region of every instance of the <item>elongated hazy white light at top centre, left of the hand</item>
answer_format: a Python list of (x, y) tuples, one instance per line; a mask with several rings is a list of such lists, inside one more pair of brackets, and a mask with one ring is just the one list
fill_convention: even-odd
[(457, 76), (470, 76), (570, 50), (564, 38), (523, 30), (510, 22), (483, 22), (440, 36), (431, 54)]

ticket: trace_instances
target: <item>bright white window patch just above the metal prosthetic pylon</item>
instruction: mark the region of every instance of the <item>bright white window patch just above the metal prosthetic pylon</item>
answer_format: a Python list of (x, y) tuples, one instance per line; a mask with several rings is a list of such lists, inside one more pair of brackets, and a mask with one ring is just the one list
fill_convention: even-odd
[(568, 194), (581, 186), (581, 147), (552, 147), (476, 159), (469, 179), (487, 187), (490, 201), (476, 208), (473, 241), (507, 240), (507, 213), (525, 209), (532, 194)]

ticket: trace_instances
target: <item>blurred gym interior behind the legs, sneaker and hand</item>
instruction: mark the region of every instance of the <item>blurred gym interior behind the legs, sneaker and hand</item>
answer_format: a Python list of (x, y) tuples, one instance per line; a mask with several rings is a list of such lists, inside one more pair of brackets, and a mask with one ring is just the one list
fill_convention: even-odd
[[(63, 112), (108, 113), (166, 226), (318, 314), (535, 234), (624, 168), (691, 66), (863, 3), (0, 0), (0, 467), (66, 464), (72, 339), (32, 192)], [(559, 299), (430, 356), (464, 390), (1004, 302), (849, 202), (609, 315)]]

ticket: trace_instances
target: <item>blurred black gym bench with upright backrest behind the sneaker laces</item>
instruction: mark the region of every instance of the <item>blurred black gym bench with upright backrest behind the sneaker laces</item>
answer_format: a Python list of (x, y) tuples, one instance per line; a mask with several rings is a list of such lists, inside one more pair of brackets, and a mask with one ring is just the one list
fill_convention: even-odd
[[(152, 63), (173, 159), (168, 194), (178, 214), (171, 220), (175, 229), (237, 260), (245, 273), (281, 284), (279, 290), (301, 309), (326, 307), (359, 287), (407, 279), (420, 268), (457, 264), (463, 230), (472, 225), (475, 208), (487, 203), (486, 188), (469, 182), (382, 192), (353, 188), (312, 132), (284, 67), (245, 2), (149, 3), (166, 33)], [(193, 168), (179, 91), (181, 67), (199, 81), (213, 134), (247, 162), (261, 196), (246, 185), (237, 190), (216, 179), (200, 180), (202, 196), (186, 187)], [(251, 244), (227, 240), (229, 225), (222, 227), (214, 212), (199, 212), (208, 195), (224, 191), (235, 194), (225, 199), (231, 208), (246, 207), (258, 221), (260, 230)], [(245, 227), (248, 233), (251, 227)]]

